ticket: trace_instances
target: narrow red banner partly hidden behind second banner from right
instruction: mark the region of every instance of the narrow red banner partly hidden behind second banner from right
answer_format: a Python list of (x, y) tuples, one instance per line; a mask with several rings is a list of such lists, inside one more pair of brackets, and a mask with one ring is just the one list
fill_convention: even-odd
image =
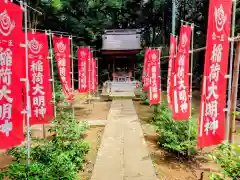
[(169, 50), (169, 64), (168, 64), (168, 81), (167, 81), (167, 100), (168, 107), (172, 108), (173, 101), (173, 81), (174, 81), (174, 59), (176, 55), (177, 38), (174, 35), (170, 37), (170, 50)]

